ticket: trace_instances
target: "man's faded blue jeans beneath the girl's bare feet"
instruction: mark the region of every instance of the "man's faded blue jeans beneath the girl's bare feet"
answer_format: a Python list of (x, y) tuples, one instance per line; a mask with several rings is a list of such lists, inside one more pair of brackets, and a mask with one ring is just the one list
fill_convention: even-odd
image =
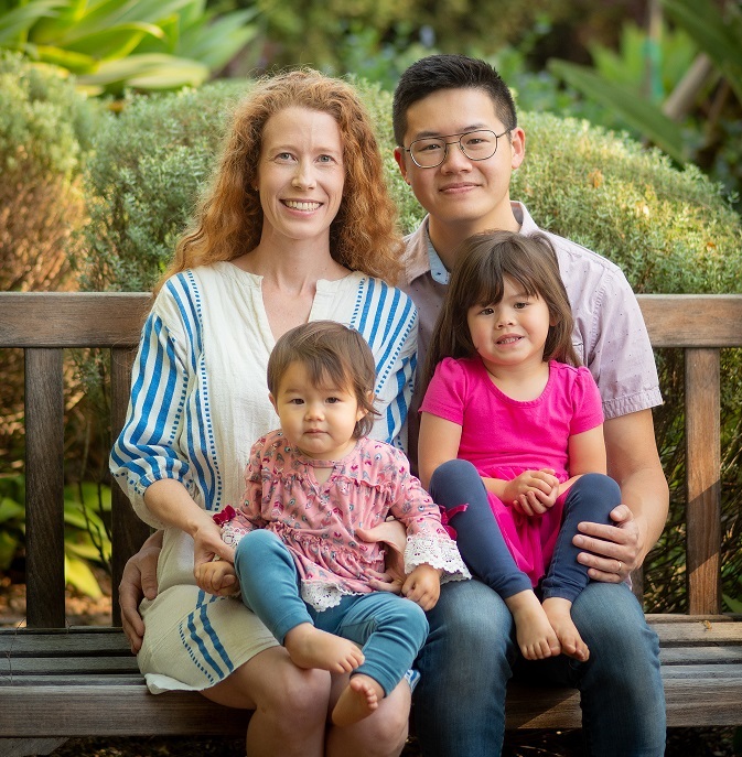
[(421, 678), (413, 715), (423, 756), (499, 755), (505, 693), (517, 664), (518, 675), (580, 690), (589, 755), (660, 757), (666, 721), (659, 642), (636, 597), (625, 584), (591, 582), (571, 616), (590, 659), (560, 655), (526, 663), (513, 617), (495, 591), (478, 581), (444, 584), (416, 662)]

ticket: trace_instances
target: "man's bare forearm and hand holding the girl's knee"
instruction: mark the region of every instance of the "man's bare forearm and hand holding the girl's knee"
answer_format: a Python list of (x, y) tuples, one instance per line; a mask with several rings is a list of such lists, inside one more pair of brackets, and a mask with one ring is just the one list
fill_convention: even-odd
[[(655, 442), (652, 411), (605, 421), (607, 473), (621, 487), (623, 504), (613, 510), (616, 526), (580, 523), (574, 544), (590, 577), (617, 583), (638, 567), (663, 532), (669, 491)], [(616, 561), (621, 569), (616, 571)]]

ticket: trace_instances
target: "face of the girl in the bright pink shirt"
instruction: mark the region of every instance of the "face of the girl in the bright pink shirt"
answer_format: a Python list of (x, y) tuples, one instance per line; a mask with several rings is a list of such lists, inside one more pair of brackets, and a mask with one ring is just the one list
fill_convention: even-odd
[(487, 367), (540, 364), (551, 318), (546, 302), (505, 277), (497, 304), (473, 305), (466, 314), (472, 342)]

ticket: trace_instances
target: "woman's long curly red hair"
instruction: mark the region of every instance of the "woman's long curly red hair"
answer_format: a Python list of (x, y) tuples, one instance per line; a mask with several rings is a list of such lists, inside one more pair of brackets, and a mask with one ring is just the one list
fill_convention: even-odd
[(312, 69), (264, 77), (237, 105), (217, 169), (165, 279), (257, 247), (264, 213), (254, 187), (264, 129), (271, 116), (295, 107), (329, 113), (341, 132), (345, 185), (330, 227), (330, 253), (353, 271), (396, 283), (402, 244), (370, 117), (350, 84)]

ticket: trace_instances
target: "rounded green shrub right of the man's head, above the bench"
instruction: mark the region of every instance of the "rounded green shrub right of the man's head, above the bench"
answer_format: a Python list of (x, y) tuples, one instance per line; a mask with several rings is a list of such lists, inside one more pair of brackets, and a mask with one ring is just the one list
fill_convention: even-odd
[(510, 196), (615, 261), (637, 292), (742, 292), (742, 221), (697, 167), (587, 121), (523, 113)]

